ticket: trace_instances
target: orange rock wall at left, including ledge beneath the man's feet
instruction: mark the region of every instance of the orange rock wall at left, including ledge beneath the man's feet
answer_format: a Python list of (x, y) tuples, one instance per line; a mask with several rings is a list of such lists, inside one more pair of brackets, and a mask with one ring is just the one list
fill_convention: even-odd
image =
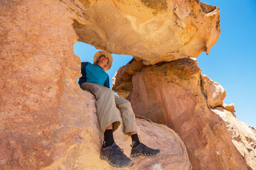
[[(0, 169), (113, 169), (99, 159), (95, 98), (77, 82), (80, 59), (73, 52), (78, 36), (72, 24), (82, 22), (78, 6), (10, 0), (0, 1), (0, 11)], [(191, 169), (173, 130), (138, 123), (142, 141), (161, 149), (162, 156), (137, 159), (135, 168)], [(130, 137), (119, 132), (116, 139), (128, 152)]]

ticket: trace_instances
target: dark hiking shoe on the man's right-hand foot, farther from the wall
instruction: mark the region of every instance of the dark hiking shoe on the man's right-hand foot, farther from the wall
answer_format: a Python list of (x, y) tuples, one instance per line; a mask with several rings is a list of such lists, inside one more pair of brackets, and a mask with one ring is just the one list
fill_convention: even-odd
[(158, 157), (160, 155), (159, 149), (151, 149), (142, 142), (136, 147), (133, 147), (133, 145), (131, 145), (131, 147), (131, 157)]

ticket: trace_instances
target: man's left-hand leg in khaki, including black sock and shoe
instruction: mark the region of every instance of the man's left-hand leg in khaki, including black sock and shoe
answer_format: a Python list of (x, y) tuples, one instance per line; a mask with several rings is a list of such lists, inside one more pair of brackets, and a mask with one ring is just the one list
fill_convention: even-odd
[(100, 128), (104, 132), (104, 142), (100, 149), (100, 159), (106, 160), (114, 167), (132, 166), (132, 160), (114, 143), (113, 131), (117, 130), (120, 125), (114, 102), (114, 92), (105, 86), (90, 83), (82, 84), (81, 88), (92, 92), (97, 100), (97, 117), (100, 122)]

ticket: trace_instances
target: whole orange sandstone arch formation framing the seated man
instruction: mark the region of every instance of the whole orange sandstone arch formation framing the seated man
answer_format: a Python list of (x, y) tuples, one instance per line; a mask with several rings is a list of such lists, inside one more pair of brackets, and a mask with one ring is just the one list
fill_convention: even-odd
[[(122, 68), (118, 90), (132, 90), (135, 111), (178, 132), (193, 169), (245, 169), (201, 94), (200, 69), (188, 59), (210, 52), (219, 17), (217, 7), (196, 0), (0, 1), (0, 169), (113, 169), (98, 157), (95, 98), (77, 83), (78, 38), (137, 59)], [(187, 59), (144, 66), (180, 58)], [(191, 169), (173, 130), (137, 123), (142, 142), (162, 154), (136, 159), (131, 169)], [(119, 130), (115, 138), (129, 154), (129, 137)]]

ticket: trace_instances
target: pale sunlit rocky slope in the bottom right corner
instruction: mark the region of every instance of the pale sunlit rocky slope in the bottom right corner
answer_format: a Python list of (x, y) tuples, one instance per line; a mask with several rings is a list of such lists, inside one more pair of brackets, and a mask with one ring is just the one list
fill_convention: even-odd
[(212, 111), (223, 118), (235, 147), (245, 157), (247, 164), (252, 169), (256, 169), (256, 130), (234, 118), (230, 111), (220, 107), (214, 108)]

